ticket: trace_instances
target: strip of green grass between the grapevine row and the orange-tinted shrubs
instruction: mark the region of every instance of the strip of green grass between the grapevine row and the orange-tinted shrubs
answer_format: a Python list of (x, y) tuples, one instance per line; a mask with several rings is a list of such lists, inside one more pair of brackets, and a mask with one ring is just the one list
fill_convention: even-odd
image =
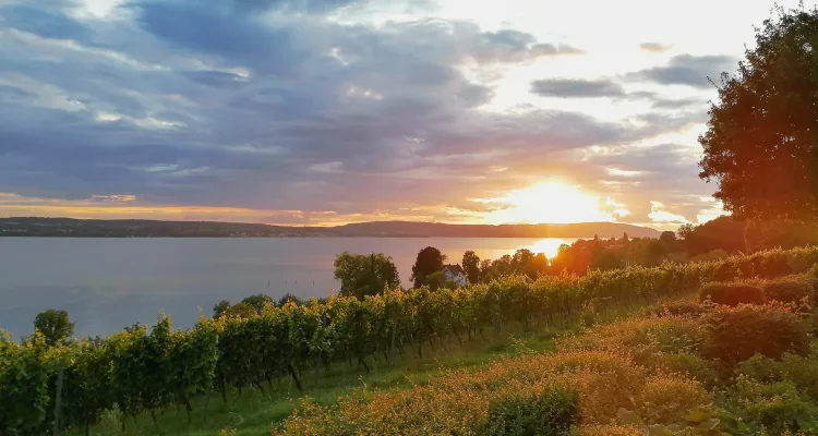
[[(634, 306), (616, 306), (594, 316), (596, 322), (613, 322), (635, 310)], [(149, 414), (125, 421), (125, 432), (121, 429), (120, 414), (108, 412), (103, 421), (91, 428), (92, 435), (218, 435), (220, 431), (236, 436), (268, 435), (270, 425), (289, 416), (304, 397), (310, 397), (320, 404), (333, 404), (339, 397), (351, 393), (364, 385), (372, 389), (406, 388), (423, 384), (441, 373), (443, 368), (474, 367), (498, 359), (502, 355), (514, 355), (521, 351), (549, 352), (555, 349), (553, 338), (579, 330), (579, 315), (561, 319), (554, 326), (536, 326), (524, 331), (521, 326), (508, 325), (497, 335), (493, 330), (484, 331), (472, 341), (458, 343), (450, 338), (443, 347), (435, 343), (433, 352), (428, 343), (423, 346), (423, 359), (417, 355), (417, 348), (405, 349), (405, 359), (387, 364), (384, 359), (368, 359), (371, 368), (369, 374), (358, 366), (338, 363), (329, 370), (308, 370), (302, 374), (303, 396), (298, 392), (291, 378), (274, 382), (272, 388), (263, 385), (264, 391), (257, 388), (229, 391), (227, 402), (220, 392), (210, 393), (207, 420), (204, 419), (204, 397), (192, 401), (193, 412), (190, 415), (183, 409), (170, 408), (157, 413), (156, 423)], [(234, 431), (234, 433), (232, 433)], [(73, 429), (70, 435), (82, 435), (82, 429)]]

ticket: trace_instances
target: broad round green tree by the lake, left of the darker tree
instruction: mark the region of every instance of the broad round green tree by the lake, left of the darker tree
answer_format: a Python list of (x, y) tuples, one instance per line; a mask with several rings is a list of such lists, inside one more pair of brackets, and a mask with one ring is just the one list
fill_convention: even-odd
[(344, 252), (335, 258), (335, 278), (341, 282), (341, 295), (376, 295), (385, 287), (400, 286), (398, 268), (392, 257), (378, 254)]

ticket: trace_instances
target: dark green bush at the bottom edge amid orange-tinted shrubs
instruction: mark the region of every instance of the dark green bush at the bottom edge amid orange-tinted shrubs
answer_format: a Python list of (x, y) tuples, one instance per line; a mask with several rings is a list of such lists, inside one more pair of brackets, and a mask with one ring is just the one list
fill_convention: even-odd
[(533, 391), (509, 390), (489, 405), (484, 435), (569, 435), (579, 424), (576, 389), (549, 386)]

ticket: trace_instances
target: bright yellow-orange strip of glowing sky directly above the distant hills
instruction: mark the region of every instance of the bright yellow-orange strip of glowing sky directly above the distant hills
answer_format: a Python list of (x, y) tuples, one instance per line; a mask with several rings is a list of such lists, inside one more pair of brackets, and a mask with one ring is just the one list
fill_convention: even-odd
[[(447, 205), (366, 210), (342, 214), (334, 210), (255, 209), (224, 206), (155, 205), (134, 195), (93, 195), (84, 199), (25, 197), (0, 192), (0, 217), (60, 217), (77, 219), (156, 219), (179, 221), (229, 221), (290, 227), (329, 227), (371, 221), (416, 221), (452, 225), (515, 225), (623, 222), (629, 216), (626, 206), (612, 197), (586, 192), (580, 185), (543, 181), (525, 189), (510, 190), (492, 198), (473, 198), (488, 206), (486, 211)], [(660, 230), (674, 230), (683, 217), (663, 211), (651, 202), (652, 222), (630, 222)], [(703, 213), (707, 213), (702, 215)], [(702, 210), (699, 223), (720, 215)], [(709, 219), (708, 219), (709, 218)], [(554, 250), (555, 247), (550, 247)]]

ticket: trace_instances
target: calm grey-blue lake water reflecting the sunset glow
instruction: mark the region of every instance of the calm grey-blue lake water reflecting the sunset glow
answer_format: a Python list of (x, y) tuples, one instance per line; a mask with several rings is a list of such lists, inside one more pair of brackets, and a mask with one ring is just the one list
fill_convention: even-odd
[(0, 238), (0, 327), (15, 338), (32, 334), (34, 316), (69, 312), (76, 336), (110, 335), (159, 312), (175, 327), (195, 324), (227, 299), (290, 292), (326, 296), (339, 288), (333, 261), (345, 250), (386, 253), (409, 283), (418, 252), (440, 249), (450, 263), (467, 250), (497, 258), (517, 249), (554, 254), (574, 239), (278, 238), (278, 239), (58, 239)]

